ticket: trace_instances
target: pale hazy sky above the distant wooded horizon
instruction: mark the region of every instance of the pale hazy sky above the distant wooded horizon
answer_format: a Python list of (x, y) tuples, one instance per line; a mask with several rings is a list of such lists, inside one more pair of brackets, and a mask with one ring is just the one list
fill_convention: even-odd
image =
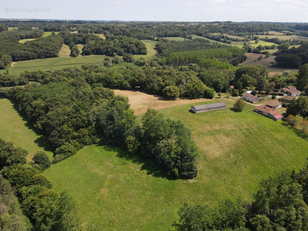
[(1, 7), (0, 18), (308, 22), (308, 0), (14, 0)]

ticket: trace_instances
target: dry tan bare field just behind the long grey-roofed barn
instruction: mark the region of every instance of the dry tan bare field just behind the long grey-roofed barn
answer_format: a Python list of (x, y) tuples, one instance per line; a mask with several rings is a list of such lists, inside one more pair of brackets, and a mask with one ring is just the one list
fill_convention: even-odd
[(128, 91), (128, 90), (119, 90), (112, 89), (115, 92), (115, 95), (122, 95), (128, 97), (131, 108), (135, 111), (135, 115), (143, 114), (147, 109), (163, 109), (167, 107), (174, 107), (178, 105), (184, 105), (188, 103), (200, 103), (211, 101), (211, 99), (188, 99), (188, 98), (178, 98), (176, 100), (166, 100), (163, 99), (160, 95), (152, 95), (140, 91)]

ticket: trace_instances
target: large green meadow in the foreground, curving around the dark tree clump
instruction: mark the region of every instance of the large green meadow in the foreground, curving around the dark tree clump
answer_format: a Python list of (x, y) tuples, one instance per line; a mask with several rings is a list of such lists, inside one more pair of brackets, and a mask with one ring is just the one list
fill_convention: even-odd
[[(199, 173), (192, 180), (168, 180), (158, 169), (119, 149), (91, 145), (43, 174), (56, 191), (77, 200), (84, 222), (113, 230), (168, 230), (185, 203), (251, 198), (260, 179), (282, 169), (298, 169), (307, 157), (307, 140), (253, 112), (230, 110), (234, 99), (215, 99), (227, 109), (192, 114), (193, 104), (160, 110), (193, 131), (199, 147)], [(201, 104), (201, 103), (200, 103)]]

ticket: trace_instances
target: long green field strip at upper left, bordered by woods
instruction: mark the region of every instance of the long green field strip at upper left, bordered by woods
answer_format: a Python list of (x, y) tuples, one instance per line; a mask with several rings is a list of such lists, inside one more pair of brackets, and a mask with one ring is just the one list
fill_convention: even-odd
[[(14, 63), (11, 67), (11, 73), (13, 75), (20, 75), (24, 71), (35, 70), (61, 70), (65, 67), (81, 67), (86, 63), (99, 63), (104, 59), (104, 55), (87, 55), (78, 57), (59, 57), (48, 59), (33, 59), (25, 60)], [(5, 72), (1, 70), (0, 73)]]

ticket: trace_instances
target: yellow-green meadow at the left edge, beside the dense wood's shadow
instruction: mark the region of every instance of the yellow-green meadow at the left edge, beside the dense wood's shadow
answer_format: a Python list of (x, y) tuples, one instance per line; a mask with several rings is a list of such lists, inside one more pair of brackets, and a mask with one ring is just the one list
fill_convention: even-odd
[(28, 125), (11, 101), (0, 97), (0, 138), (12, 141), (17, 147), (26, 149), (29, 153), (27, 156), (29, 161), (36, 151), (45, 151), (52, 158), (53, 154), (48, 151), (46, 145), (46, 137), (38, 135), (33, 129), (29, 129)]

